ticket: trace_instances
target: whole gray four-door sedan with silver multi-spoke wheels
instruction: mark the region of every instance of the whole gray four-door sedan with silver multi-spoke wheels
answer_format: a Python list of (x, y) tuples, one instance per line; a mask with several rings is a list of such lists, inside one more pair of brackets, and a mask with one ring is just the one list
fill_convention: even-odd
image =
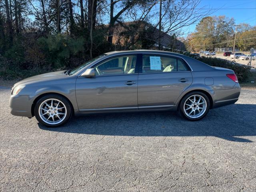
[(233, 104), (240, 86), (232, 70), (165, 51), (109, 52), (72, 70), (26, 78), (14, 85), (11, 114), (55, 127), (72, 114), (178, 111), (200, 120)]

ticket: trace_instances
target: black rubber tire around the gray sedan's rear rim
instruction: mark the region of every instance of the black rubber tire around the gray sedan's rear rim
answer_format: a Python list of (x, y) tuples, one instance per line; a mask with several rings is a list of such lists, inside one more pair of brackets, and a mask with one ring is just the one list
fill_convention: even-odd
[[(200, 117), (197, 117), (197, 118), (191, 118), (191, 117), (187, 116), (186, 112), (184, 111), (184, 103), (186, 102), (186, 100), (188, 98), (190, 98), (193, 95), (202, 96), (205, 99), (205, 101), (206, 101), (206, 110), (205, 110), (205, 112)], [(210, 100), (209, 100), (208, 96), (206, 96), (206, 94), (204, 94), (202, 92), (194, 91), (194, 92), (190, 92), (189, 94), (186, 94), (182, 98), (182, 100), (180, 101), (179, 113), (186, 120), (198, 121), (198, 120), (200, 120), (200, 119), (202, 119), (202, 118), (204, 118), (206, 116), (206, 114), (209, 112), (209, 109), (210, 109)]]

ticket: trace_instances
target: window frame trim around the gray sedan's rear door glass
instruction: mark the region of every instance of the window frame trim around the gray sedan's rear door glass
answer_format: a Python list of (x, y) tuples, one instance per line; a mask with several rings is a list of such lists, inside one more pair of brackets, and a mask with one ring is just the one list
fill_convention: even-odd
[[(148, 72), (148, 73), (143, 73), (142, 72), (142, 68), (143, 68), (143, 60), (142, 60), (142, 58), (143, 58), (143, 56), (144, 55), (146, 55), (146, 56), (150, 56), (150, 55), (152, 55), (152, 56), (163, 56), (163, 57), (169, 57), (169, 58), (176, 58), (176, 65), (177, 65), (177, 71), (168, 71), (168, 72)], [(184, 62), (184, 64), (188, 67), (188, 70), (187, 71), (178, 71), (178, 58), (179, 59), (181, 59), (183, 62)], [(139, 74), (150, 74), (150, 73), (172, 73), (172, 72), (192, 72), (193, 70), (192, 70), (192, 68), (190, 67), (190, 65), (188, 64), (188, 62), (186, 62), (186, 60), (184, 60), (183, 58), (181, 58), (181, 57), (178, 57), (178, 56), (172, 56), (172, 55), (168, 55), (168, 54), (159, 54), (159, 53), (157, 53), (157, 54), (153, 54), (153, 53), (142, 53), (142, 55), (141, 55), (141, 68), (140, 68), (140, 70), (139, 70)]]

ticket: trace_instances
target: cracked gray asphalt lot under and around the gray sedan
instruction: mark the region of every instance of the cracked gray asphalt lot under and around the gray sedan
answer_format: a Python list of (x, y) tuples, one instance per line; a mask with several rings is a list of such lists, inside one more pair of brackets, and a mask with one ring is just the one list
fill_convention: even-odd
[(0, 88), (0, 191), (256, 191), (256, 90), (199, 122), (173, 112), (12, 116)]

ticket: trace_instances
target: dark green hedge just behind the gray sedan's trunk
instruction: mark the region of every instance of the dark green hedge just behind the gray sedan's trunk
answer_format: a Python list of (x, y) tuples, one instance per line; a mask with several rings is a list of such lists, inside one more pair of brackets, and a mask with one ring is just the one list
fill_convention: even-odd
[(206, 63), (210, 66), (215, 66), (215, 67), (223, 67), (223, 68), (228, 68), (231, 69), (235, 72), (238, 81), (239, 82), (245, 82), (248, 76), (250, 75), (250, 66), (246, 65), (240, 65), (240, 64), (235, 64), (231, 63), (228, 60), (220, 59), (220, 58), (212, 58), (212, 57), (200, 57), (196, 58), (197, 60)]

